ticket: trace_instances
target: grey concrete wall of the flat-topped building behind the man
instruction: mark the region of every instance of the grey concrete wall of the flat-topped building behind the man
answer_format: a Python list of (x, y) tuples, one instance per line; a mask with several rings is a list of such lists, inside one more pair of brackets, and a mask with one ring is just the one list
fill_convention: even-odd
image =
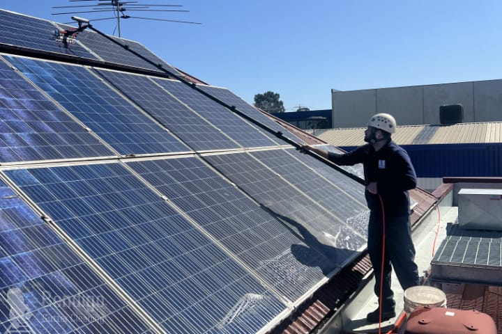
[(502, 80), (452, 84), (332, 90), (333, 128), (361, 127), (375, 113), (390, 113), (398, 125), (441, 124), (440, 106), (462, 104), (462, 122), (502, 120)]

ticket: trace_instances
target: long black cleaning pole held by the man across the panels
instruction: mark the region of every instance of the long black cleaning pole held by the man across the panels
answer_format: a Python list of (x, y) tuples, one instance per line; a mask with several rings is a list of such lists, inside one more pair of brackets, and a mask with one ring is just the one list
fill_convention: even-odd
[[(197, 92), (199, 92), (202, 95), (208, 97), (209, 99), (213, 100), (214, 102), (217, 102), (218, 104), (221, 104), (222, 106), (225, 106), (225, 108), (229, 109), (233, 113), (236, 113), (236, 115), (241, 116), (241, 118), (244, 118), (245, 120), (248, 120), (248, 121), (252, 122), (252, 124), (257, 125), (261, 129), (264, 129), (266, 132), (268, 132), (270, 134), (273, 134), (274, 136), (277, 136), (277, 138), (282, 139), (283, 141), (289, 143), (290, 145), (293, 145), (296, 149), (301, 149), (301, 145), (300, 144), (296, 143), (295, 141), (292, 141), (290, 138), (287, 138), (286, 136), (284, 136), (282, 134), (282, 132), (280, 132), (280, 131), (276, 132), (274, 129), (271, 129), (267, 125), (264, 125), (263, 123), (261, 123), (261, 122), (259, 122), (257, 120), (254, 120), (254, 118), (251, 118), (250, 116), (246, 115), (242, 111), (239, 111), (236, 108), (236, 106), (231, 106), (231, 105), (227, 104), (226, 102), (218, 99), (218, 97), (215, 97), (214, 95), (211, 95), (211, 94), (207, 93), (206, 91), (202, 90), (201, 88), (197, 87), (197, 84), (192, 83), (190, 81), (187, 81), (183, 77), (180, 77), (180, 76), (178, 76), (178, 75), (176, 75), (176, 74), (174, 74), (172, 72), (169, 72), (169, 70), (166, 70), (164, 67), (162, 67), (161, 64), (155, 64), (153, 61), (151, 61), (148, 58), (142, 56), (141, 54), (137, 53), (133, 49), (130, 49), (130, 47), (128, 45), (122, 44), (121, 42), (116, 41), (113, 38), (109, 37), (109, 35), (106, 35), (105, 33), (102, 33), (98, 29), (94, 28), (94, 26), (92, 24), (89, 23), (88, 26), (87, 26), (87, 28), (89, 28), (89, 29), (91, 29), (93, 31), (96, 31), (96, 33), (98, 33), (98, 34), (102, 35), (103, 37), (107, 38), (108, 40), (114, 42), (114, 44), (119, 45), (120, 47), (123, 47), (124, 49), (126, 49), (127, 51), (130, 51), (135, 56), (137, 56), (137, 57), (141, 58), (142, 60), (146, 61), (147, 63), (149, 63), (149, 64), (157, 67), (159, 70), (161, 70), (162, 72), (165, 72), (167, 75), (169, 75), (169, 77), (173, 77), (174, 79), (176, 79), (178, 81), (181, 81), (183, 84), (185, 84), (187, 86), (190, 86), (191, 88), (197, 90)], [(319, 154), (311, 152), (310, 150), (308, 150), (307, 153), (310, 154), (312, 157), (314, 157), (314, 158), (316, 158), (316, 159), (318, 159), (320, 161), (323, 161), (325, 164), (328, 164), (328, 166), (330, 166), (332, 168), (335, 168), (340, 173), (342, 173), (342, 174), (350, 177), (352, 180), (354, 180), (354, 181), (356, 181), (356, 182), (358, 182), (360, 184), (365, 185), (365, 181), (363, 179), (361, 179), (357, 175), (353, 175), (352, 173), (347, 172), (347, 170), (344, 170), (343, 168), (340, 168), (340, 166), (337, 166), (336, 164), (333, 164), (331, 161), (328, 161), (327, 159), (324, 159), (324, 157), (321, 157)]]

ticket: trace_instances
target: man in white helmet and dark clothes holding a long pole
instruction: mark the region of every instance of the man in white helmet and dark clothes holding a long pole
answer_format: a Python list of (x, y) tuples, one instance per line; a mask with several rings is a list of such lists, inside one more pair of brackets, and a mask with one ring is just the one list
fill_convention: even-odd
[(416, 187), (416, 173), (406, 151), (392, 141), (395, 130), (393, 116), (378, 113), (367, 122), (367, 144), (352, 152), (337, 154), (311, 145), (301, 147), (337, 165), (363, 164), (365, 198), (370, 209), (367, 248), (376, 279), (374, 293), (381, 295), (379, 308), (367, 315), (367, 322), (372, 324), (395, 317), (394, 293), (390, 288), (392, 268), (402, 289), (419, 284), (408, 194)]

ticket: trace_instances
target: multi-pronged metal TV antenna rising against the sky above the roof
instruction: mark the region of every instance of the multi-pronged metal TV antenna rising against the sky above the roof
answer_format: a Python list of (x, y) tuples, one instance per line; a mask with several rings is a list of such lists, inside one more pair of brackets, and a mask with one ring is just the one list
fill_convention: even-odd
[[(121, 37), (121, 20), (122, 19), (149, 19), (154, 21), (165, 21), (165, 22), (176, 22), (176, 23), (186, 23), (186, 24), (200, 24), (200, 22), (189, 22), (180, 21), (176, 19), (162, 19), (156, 17), (137, 17), (126, 14), (126, 12), (149, 12), (149, 13), (161, 13), (161, 12), (189, 12), (190, 10), (179, 10), (179, 9), (163, 9), (163, 8), (179, 8), (183, 5), (165, 5), (165, 4), (146, 4), (140, 3), (140, 1), (119, 1), (119, 0), (68, 0), (70, 2), (79, 3), (89, 3), (93, 4), (85, 5), (73, 5), (73, 6), (54, 6), (52, 8), (62, 10), (63, 8), (68, 8), (70, 10), (65, 13), (52, 13), (52, 15), (68, 15), (68, 14), (80, 14), (80, 13), (107, 13), (113, 14), (113, 17), (97, 17), (92, 19), (92, 21), (100, 21), (105, 19), (116, 19), (116, 29), (119, 32), (119, 37)], [(74, 11), (71, 11), (74, 10)], [(71, 23), (71, 22), (70, 22)], [(114, 31), (115, 33), (115, 31)]]

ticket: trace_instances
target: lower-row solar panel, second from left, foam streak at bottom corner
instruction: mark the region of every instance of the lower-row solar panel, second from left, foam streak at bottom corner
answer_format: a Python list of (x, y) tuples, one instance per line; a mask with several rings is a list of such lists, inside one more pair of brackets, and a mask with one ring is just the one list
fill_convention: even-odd
[(285, 308), (122, 164), (5, 173), (167, 333), (255, 333)]

